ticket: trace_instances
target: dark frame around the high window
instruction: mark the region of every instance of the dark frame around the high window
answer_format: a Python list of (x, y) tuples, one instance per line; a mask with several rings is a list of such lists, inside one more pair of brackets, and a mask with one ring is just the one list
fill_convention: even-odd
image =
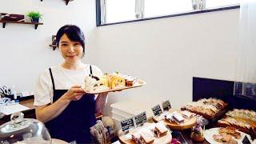
[[(228, 6), (206, 8), (204, 10), (190, 10), (190, 11), (186, 11), (186, 12), (167, 14), (167, 15), (151, 17), (151, 18), (142, 18), (142, 19), (134, 19), (134, 20), (130, 20), (130, 21), (111, 22), (111, 23), (102, 24), (102, 21), (104, 21), (104, 20), (106, 21), (106, 19), (102, 19), (101, 1), (102, 0), (96, 0), (96, 26), (110, 26), (110, 25), (117, 25), (117, 24), (122, 24), (122, 23), (141, 22), (141, 21), (148, 21), (148, 20), (160, 19), (160, 18), (172, 18), (172, 17), (183, 16), (183, 15), (201, 14), (201, 13), (209, 13), (209, 12), (214, 12), (214, 11), (232, 10), (232, 9), (240, 8), (240, 4), (233, 4), (233, 5), (228, 5)], [(104, 8), (104, 10), (105, 10), (105, 8)], [(106, 12), (106, 11), (104, 11), (104, 12)]]

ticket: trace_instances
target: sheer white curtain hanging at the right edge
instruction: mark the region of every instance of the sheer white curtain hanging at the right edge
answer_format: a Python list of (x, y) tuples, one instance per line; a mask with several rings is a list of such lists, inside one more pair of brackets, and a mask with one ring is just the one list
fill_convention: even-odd
[(240, 6), (239, 58), (234, 94), (256, 99), (256, 0)]

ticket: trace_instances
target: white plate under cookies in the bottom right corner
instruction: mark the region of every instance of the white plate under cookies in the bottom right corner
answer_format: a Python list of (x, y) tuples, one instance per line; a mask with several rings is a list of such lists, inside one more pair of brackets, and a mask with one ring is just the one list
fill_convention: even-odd
[[(219, 129), (219, 127), (211, 128), (209, 130), (205, 130), (204, 136), (205, 136), (207, 142), (210, 142), (210, 144), (221, 144), (221, 142), (214, 141), (214, 138), (213, 138), (214, 134), (218, 134), (218, 129)], [(249, 141), (251, 143), (253, 143), (249, 134), (243, 133), (242, 131), (239, 131), (239, 130), (238, 130), (238, 132), (241, 134), (241, 138), (236, 139), (236, 138), (233, 137), (233, 139), (235, 141), (237, 141), (238, 144), (242, 144), (242, 139), (245, 138), (245, 136), (247, 136), (247, 138), (249, 138)], [(255, 141), (254, 141), (254, 143), (255, 143)]]

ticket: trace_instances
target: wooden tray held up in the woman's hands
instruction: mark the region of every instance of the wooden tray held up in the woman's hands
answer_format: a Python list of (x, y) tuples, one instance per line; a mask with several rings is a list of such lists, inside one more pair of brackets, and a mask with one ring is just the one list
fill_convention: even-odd
[(101, 94), (101, 93), (109, 93), (109, 92), (115, 92), (115, 91), (121, 91), (121, 90), (127, 90), (127, 89), (133, 89), (135, 87), (140, 87), (146, 85), (146, 82), (142, 79), (138, 79), (138, 82), (134, 83), (134, 86), (122, 86), (117, 87), (110, 90), (103, 90), (103, 91), (86, 91), (87, 94)]

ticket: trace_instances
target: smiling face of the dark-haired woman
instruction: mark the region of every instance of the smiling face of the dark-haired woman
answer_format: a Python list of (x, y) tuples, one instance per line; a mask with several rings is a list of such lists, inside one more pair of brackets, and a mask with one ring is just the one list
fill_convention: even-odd
[(62, 57), (68, 63), (76, 63), (82, 58), (82, 46), (79, 42), (72, 42), (66, 34), (62, 35), (59, 41), (59, 50)]

